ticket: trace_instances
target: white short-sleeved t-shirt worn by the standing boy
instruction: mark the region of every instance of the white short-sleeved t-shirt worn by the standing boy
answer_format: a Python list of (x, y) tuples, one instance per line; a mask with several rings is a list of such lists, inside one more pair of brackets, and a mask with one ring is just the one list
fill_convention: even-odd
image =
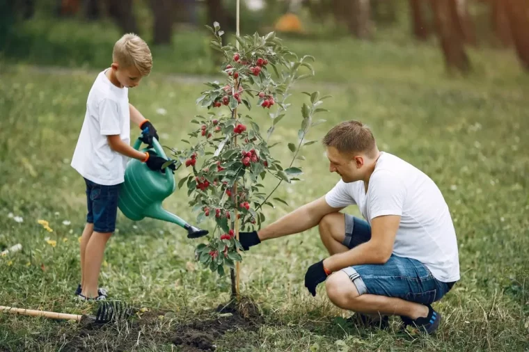
[(128, 88), (114, 86), (105, 71), (97, 75), (88, 93), (71, 166), (92, 182), (113, 185), (124, 181), (129, 158), (111, 150), (106, 136), (119, 134), (123, 142), (130, 143), (129, 96)]

